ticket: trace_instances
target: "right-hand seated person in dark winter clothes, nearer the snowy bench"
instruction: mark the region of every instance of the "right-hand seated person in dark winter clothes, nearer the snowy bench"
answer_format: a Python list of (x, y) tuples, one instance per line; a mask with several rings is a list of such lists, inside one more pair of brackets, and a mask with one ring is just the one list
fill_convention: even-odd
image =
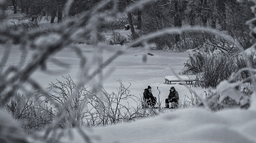
[(168, 95), (168, 97), (165, 99), (165, 108), (169, 108), (169, 103), (174, 102), (174, 107), (171, 108), (175, 108), (178, 105), (178, 91), (176, 91), (176, 89), (174, 87), (170, 88), (170, 93)]

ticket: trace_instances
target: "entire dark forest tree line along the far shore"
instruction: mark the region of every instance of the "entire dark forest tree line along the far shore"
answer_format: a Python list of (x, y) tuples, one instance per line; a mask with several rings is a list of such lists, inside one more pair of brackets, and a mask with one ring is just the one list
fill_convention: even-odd
[[(81, 12), (90, 12), (95, 5), (102, 0), (73, 0), (68, 15), (64, 15), (64, 7), (67, 0), (7, 0), (12, 3), (14, 13), (20, 10), (26, 14), (32, 22), (47, 16), (50, 23), (61, 23), (67, 16), (75, 16)], [(121, 11), (129, 4), (138, 0), (118, 0), (118, 9)], [(249, 28), (245, 26), (246, 20), (254, 17), (250, 11), (252, 1), (237, 2), (236, 0), (157, 0), (151, 1), (143, 8), (127, 12), (127, 23), (132, 31), (132, 38), (138, 38), (135, 26), (142, 34), (170, 27), (182, 26), (208, 26), (238, 39), (243, 47), (249, 47)], [(109, 7), (112, 7), (111, 4)], [(169, 35), (153, 39), (159, 47), (172, 47), (188, 38), (186, 35)], [(189, 37), (195, 37), (193, 34)], [(199, 41), (210, 39), (208, 36), (200, 36)], [(212, 37), (211, 37), (212, 39)], [(197, 41), (198, 41), (197, 40)], [(217, 44), (219, 45), (219, 44)]]

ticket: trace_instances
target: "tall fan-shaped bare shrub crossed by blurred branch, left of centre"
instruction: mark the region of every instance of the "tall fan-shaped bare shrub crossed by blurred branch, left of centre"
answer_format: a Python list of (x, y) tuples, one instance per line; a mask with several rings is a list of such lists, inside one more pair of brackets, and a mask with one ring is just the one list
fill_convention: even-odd
[[(57, 80), (56, 83), (51, 82), (48, 92), (53, 93), (43, 93), (41, 96), (54, 105), (57, 112), (60, 112), (61, 108), (64, 107), (65, 112), (61, 117), (61, 123), (57, 125), (59, 128), (66, 128), (66, 125), (70, 127), (81, 126), (83, 125), (83, 109), (86, 107), (87, 90), (82, 87), (76, 92), (77, 87), (71, 77), (64, 77), (64, 80), (64, 82), (60, 80)], [(74, 94), (73, 92), (76, 92), (75, 96), (71, 96)], [(65, 105), (67, 101), (69, 101), (69, 104)]]

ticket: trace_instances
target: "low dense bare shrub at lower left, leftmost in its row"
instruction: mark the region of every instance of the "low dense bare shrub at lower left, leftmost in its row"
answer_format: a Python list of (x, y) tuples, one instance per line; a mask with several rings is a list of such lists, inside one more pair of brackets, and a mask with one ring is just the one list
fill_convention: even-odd
[(31, 134), (40, 131), (50, 124), (54, 113), (46, 101), (37, 102), (39, 96), (29, 98), (17, 93), (5, 103), (5, 109), (18, 120), (24, 131)]

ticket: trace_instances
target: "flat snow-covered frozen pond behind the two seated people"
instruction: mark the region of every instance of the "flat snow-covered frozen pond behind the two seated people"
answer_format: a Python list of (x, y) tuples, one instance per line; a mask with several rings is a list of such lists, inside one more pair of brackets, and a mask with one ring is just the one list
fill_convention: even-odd
[[(95, 51), (91, 45), (78, 45), (83, 50), (83, 54), (86, 55), (88, 59), (88, 67), (90, 69), (95, 69), (94, 67), (97, 64), (94, 64), (95, 59)], [(116, 47), (121, 48), (121, 47)], [(0, 52), (4, 53), (4, 48), (1, 46)], [(142, 61), (143, 54), (151, 53), (153, 55), (148, 55), (148, 60), (146, 63)], [(18, 46), (12, 48), (12, 52), (10, 54), (10, 58), (7, 62), (7, 66), (17, 66), (20, 63), (20, 50)], [(102, 58), (105, 61), (113, 55), (112, 51), (103, 50)], [(131, 90), (131, 94), (140, 98), (143, 96), (143, 91), (148, 85), (151, 86), (153, 95), (157, 97), (159, 91), (157, 87), (161, 91), (159, 95), (160, 101), (162, 104), (167, 98), (170, 87), (174, 86), (176, 90), (178, 90), (180, 101), (184, 101), (184, 96), (191, 96), (191, 93), (184, 85), (178, 84), (180, 82), (172, 82), (171, 85), (165, 84), (165, 77), (174, 75), (171, 71), (171, 68), (178, 73), (181, 69), (184, 68), (184, 63), (188, 59), (189, 53), (173, 53), (167, 50), (143, 50), (141, 48), (132, 48), (128, 50), (127, 53), (118, 57), (113, 63), (110, 63), (109, 66), (105, 68), (103, 73), (108, 73), (111, 71), (108, 76), (105, 76), (106, 79), (102, 80), (102, 86), (109, 93), (117, 92), (117, 88), (119, 87), (118, 80), (121, 80), (123, 84), (128, 87), (131, 84), (129, 90)], [(2, 55), (1, 55), (2, 56)], [(79, 80), (79, 58), (71, 49), (62, 50), (60, 53), (57, 53), (55, 56), (59, 61), (69, 64), (69, 70), (63, 70), (59, 68), (59, 66), (48, 63), (47, 67), (50, 71), (58, 71), (56, 74), (45, 74), (42, 71), (37, 71), (32, 75), (34, 80), (37, 80), (43, 88), (47, 88), (50, 82), (57, 82), (57, 80), (64, 80), (61, 76), (69, 75), (72, 77), (72, 80)], [(31, 53), (27, 58), (22, 59), (28, 63), (33, 60), (31, 58)], [(57, 80), (56, 80), (57, 79)], [(86, 85), (89, 86), (89, 85)], [(189, 85), (190, 86), (190, 85)], [(207, 91), (207, 89), (203, 88), (193, 88), (198, 94), (203, 93), (203, 91)], [(136, 107), (137, 104), (135, 102), (130, 102), (130, 106)]]

